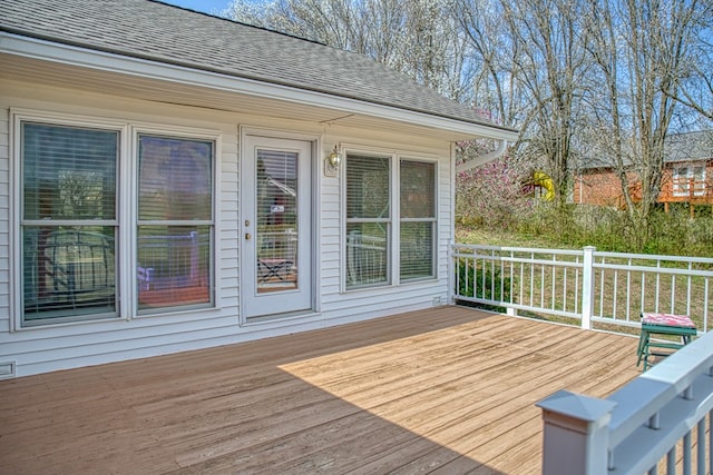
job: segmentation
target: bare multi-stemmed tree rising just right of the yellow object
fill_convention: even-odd
[[[491,105],[505,123],[520,129],[516,154],[550,175],[564,206],[590,67],[578,0],[455,1],[479,60],[478,103]]]

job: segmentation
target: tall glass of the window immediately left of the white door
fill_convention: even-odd
[[[213,301],[213,142],[139,136],[139,310]]]

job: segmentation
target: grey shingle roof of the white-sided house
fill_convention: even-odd
[[[492,126],[365,56],[154,0],[2,0],[0,30]]]

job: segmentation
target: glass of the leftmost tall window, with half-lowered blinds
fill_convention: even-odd
[[[116,316],[119,133],[33,122],[20,133],[22,324]]]

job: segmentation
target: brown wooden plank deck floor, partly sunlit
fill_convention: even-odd
[[[636,339],[439,307],[0,382],[2,474],[535,474],[535,403]]]

